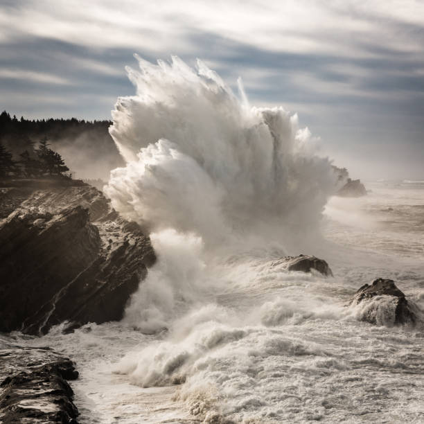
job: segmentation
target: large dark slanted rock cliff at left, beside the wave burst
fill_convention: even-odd
[[[87,184],[24,192],[0,222],[0,331],[121,319],[154,263],[150,239]]]

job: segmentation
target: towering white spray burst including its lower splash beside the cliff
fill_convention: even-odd
[[[138,60],[140,71],[128,69],[136,96],[118,100],[110,129],[127,166],[112,171],[105,191],[152,231],[159,260],[126,317],[153,331],[240,279],[228,272],[246,269],[247,258],[306,244],[335,176],[296,115],[249,107],[200,61],[193,70],[175,57]]]

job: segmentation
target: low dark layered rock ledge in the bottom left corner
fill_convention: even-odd
[[[50,348],[0,348],[0,422],[77,424],[73,363]]]

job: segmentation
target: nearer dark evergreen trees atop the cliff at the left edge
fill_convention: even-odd
[[[39,142],[37,149],[34,148],[35,143],[31,143],[27,150],[19,154],[17,161],[13,159],[12,153],[0,143],[0,177],[71,178],[71,174],[67,174],[69,168],[65,165],[62,157],[48,147],[47,141],[47,137],[44,137]]]

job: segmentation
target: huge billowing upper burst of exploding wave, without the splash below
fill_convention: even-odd
[[[138,58],[138,57],[137,57]],[[112,171],[114,206],[150,231],[193,232],[208,245],[280,242],[315,229],[334,187],[308,128],[282,107],[249,107],[202,62],[127,69],[110,130],[127,166]],[[256,240],[257,242],[257,240]]]

